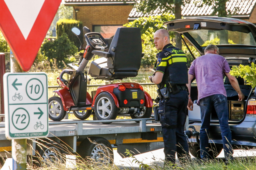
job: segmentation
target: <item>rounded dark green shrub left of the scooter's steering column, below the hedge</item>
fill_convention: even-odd
[[[61,61],[70,63],[67,55],[75,55],[76,52],[77,48],[74,42],[68,39],[66,33],[63,33],[59,38],[55,39],[55,41],[46,40],[41,47],[41,53],[47,57],[46,59],[49,59],[50,62],[56,59],[59,63],[59,67],[63,67]]]

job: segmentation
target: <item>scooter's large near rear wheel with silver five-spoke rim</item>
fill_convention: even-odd
[[[98,120],[115,120],[118,107],[108,92],[102,92],[95,99],[94,112]]]

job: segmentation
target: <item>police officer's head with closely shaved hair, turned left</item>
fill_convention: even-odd
[[[170,35],[166,29],[157,30],[154,33],[154,44],[156,49],[163,50],[164,46],[170,43]]]

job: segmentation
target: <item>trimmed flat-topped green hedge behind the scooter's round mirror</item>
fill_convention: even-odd
[[[83,23],[81,21],[77,21],[77,20],[74,20],[74,19],[60,19],[56,23],[56,25],[57,25],[56,26],[57,37],[60,37],[63,33],[66,33],[68,35],[68,39],[71,42],[74,42],[76,47],[79,49],[79,47],[81,45],[80,41],[83,43],[83,38],[84,38]],[[81,34],[79,36],[80,41],[78,40],[76,35],[71,32],[71,28],[73,28],[74,26],[79,28],[79,30],[81,31]]]

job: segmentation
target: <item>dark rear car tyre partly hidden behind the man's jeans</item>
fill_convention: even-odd
[[[196,144],[196,145],[197,145],[197,144]],[[209,144],[209,148],[211,148],[210,151],[208,152],[210,159],[216,158],[218,155],[220,155],[220,152],[222,151],[222,147],[217,147],[217,146],[215,146],[214,144],[212,144],[212,147],[211,147],[211,145]],[[199,147],[198,145],[195,146],[195,147],[191,147],[191,146],[189,145],[189,152],[190,152],[191,155],[193,155],[195,158],[201,159],[201,156],[200,156],[200,147]]]

